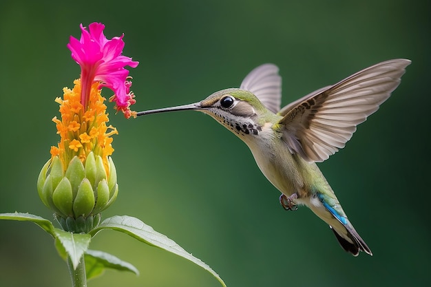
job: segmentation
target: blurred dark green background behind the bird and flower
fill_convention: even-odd
[[[319,164],[373,257],[353,257],[305,207],[284,211],[246,146],[195,112],[125,120],[113,158],[120,193],[103,216],[132,215],[211,266],[228,286],[425,286],[430,247],[430,1],[2,1],[0,212],[52,218],[36,178],[56,145],[56,96],[79,67],[80,23],[125,33],[136,110],[196,102],[276,63],[283,104],[364,67],[412,60],[346,149]],[[105,91],[108,98],[110,91]],[[0,222],[0,286],[70,286],[38,226]],[[134,264],[89,286],[219,286],[198,266],[122,233],[90,248]]]

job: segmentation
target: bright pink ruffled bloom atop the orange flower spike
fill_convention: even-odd
[[[67,47],[72,52],[72,59],[81,66],[81,104],[87,107],[90,89],[94,81],[101,82],[101,87],[114,91],[109,100],[115,101],[117,111],[123,111],[126,118],[134,114],[130,106],[136,103],[134,94],[130,91],[132,82],[125,66],[136,67],[139,62],[121,55],[123,52],[123,35],[108,40],[103,34],[105,25],[91,23],[85,30],[81,27],[81,39],[70,36]]]

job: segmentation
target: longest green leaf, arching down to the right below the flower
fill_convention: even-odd
[[[161,233],[154,231],[151,226],[138,220],[138,218],[130,217],[127,215],[109,217],[106,220],[103,220],[103,222],[101,222],[101,224],[99,224],[92,231],[90,231],[90,234],[94,236],[102,229],[113,229],[116,231],[121,231],[123,233],[126,233],[127,235],[134,237],[140,242],[145,242],[146,244],[149,244],[151,246],[156,246],[158,248],[165,249],[166,251],[184,257],[185,259],[188,259],[194,264],[207,270],[216,279],[218,279],[218,281],[220,281],[222,286],[226,287],[224,281],[217,273],[215,273],[213,269],[211,269],[211,267],[185,251],[181,246],[176,244],[174,240],[170,240],[168,237],[166,237],[166,235],[162,235]]]

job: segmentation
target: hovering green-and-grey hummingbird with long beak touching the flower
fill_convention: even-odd
[[[284,209],[308,206],[329,224],[345,251],[372,255],[315,162],[344,147],[356,126],[389,98],[409,64],[406,59],[378,63],[282,109],[278,68],[264,64],[251,71],[239,89],[222,89],[198,103],[137,115],[182,110],[209,114],[246,143],[264,176],[281,191]]]

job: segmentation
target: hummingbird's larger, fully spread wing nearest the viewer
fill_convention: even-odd
[[[308,162],[326,160],[389,98],[409,64],[395,59],[373,65],[284,107],[279,123],[284,142]]]

